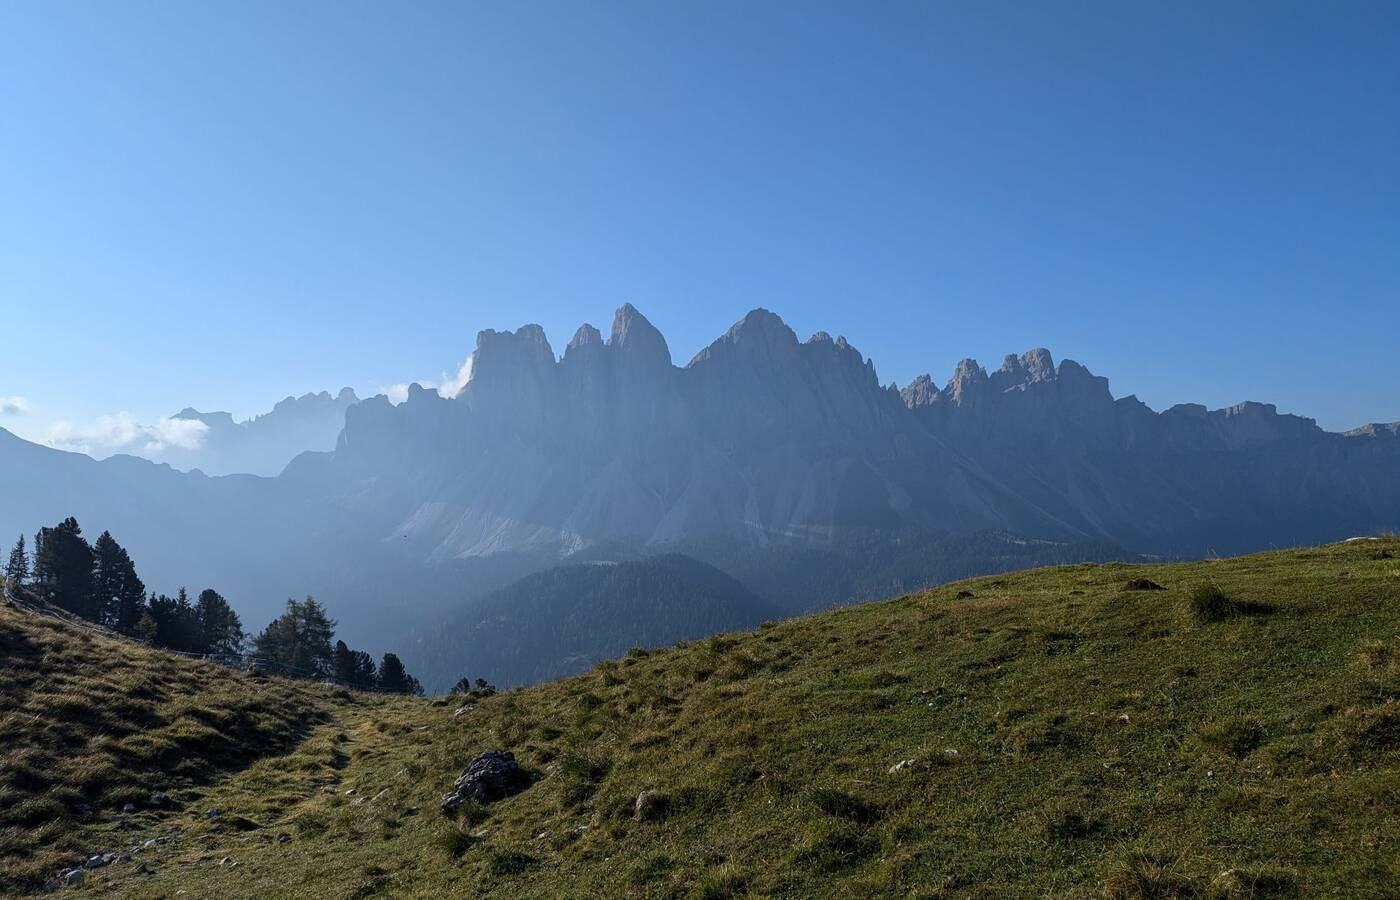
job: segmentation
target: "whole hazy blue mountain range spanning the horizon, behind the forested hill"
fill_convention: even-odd
[[[972,536],[984,556],[958,550],[958,577],[1039,558],[1008,547],[1198,557],[1400,526],[1394,424],[1336,434],[1266,403],[1158,413],[1040,349],[899,389],[844,339],[802,342],[764,309],[683,367],[624,305],[561,356],[536,325],[482,332],[451,399],[319,396],[322,421],[344,419],[333,449],[311,442],[276,477],[0,434],[0,533],[76,515],[148,584],[210,579],[252,623],[315,593],[372,644],[581,558],[683,553],[797,612],[931,584]],[[798,582],[812,589],[784,593]]]

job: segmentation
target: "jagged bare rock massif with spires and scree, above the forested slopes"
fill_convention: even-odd
[[[766,309],[678,368],[627,305],[560,360],[538,326],[483,332],[454,400],[351,407],[335,455],[294,474],[370,487],[385,533],[431,560],[909,529],[1204,553],[1385,528],[1392,435],[1261,403],[1155,413],[1044,349],[895,391],[844,339],[799,342]]]

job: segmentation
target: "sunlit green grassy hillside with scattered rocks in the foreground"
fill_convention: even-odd
[[[1123,589],[1138,578],[1165,589]],[[462,715],[461,700],[252,683],[122,647],[157,691],[162,721],[143,728],[169,740],[207,728],[195,771],[168,774],[178,808],[129,816],[130,830],[67,816],[77,795],[42,785],[45,764],[15,778],[10,756],[132,740],[102,733],[125,715],[87,718],[98,691],[130,694],[105,662],[118,652],[27,614],[0,621],[6,647],[36,648],[21,659],[45,672],[20,687],[38,663],[15,676],[7,649],[4,806],[55,801],[6,822],[7,878],[74,848],[171,838],[74,894],[108,880],[192,899],[291,885],[305,897],[1394,897],[1400,885],[1400,540],[983,578],[634,652]],[[41,689],[60,665],[64,690]],[[204,707],[246,708],[252,746],[218,749],[218,726],[193,712]],[[539,781],[444,816],[438,796],[487,747]],[[175,756],[112,759],[125,785]]]

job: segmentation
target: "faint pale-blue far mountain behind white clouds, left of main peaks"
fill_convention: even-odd
[[[277,474],[293,456],[304,451],[335,448],[346,410],[358,403],[350,388],[332,396],[304,393],[287,398],[272,412],[245,421],[234,421],[228,413],[202,413],[185,407],[171,419],[200,421],[206,426],[197,447],[162,445],[141,455],[153,462],[165,462],[176,469],[200,469],[206,474]]]

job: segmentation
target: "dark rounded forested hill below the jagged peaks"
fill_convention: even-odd
[[[514,687],[582,672],[631,647],[752,628],[777,614],[734,578],[678,553],[575,563],[451,610],[403,644],[403,656],[430,690],[468,675]]]

